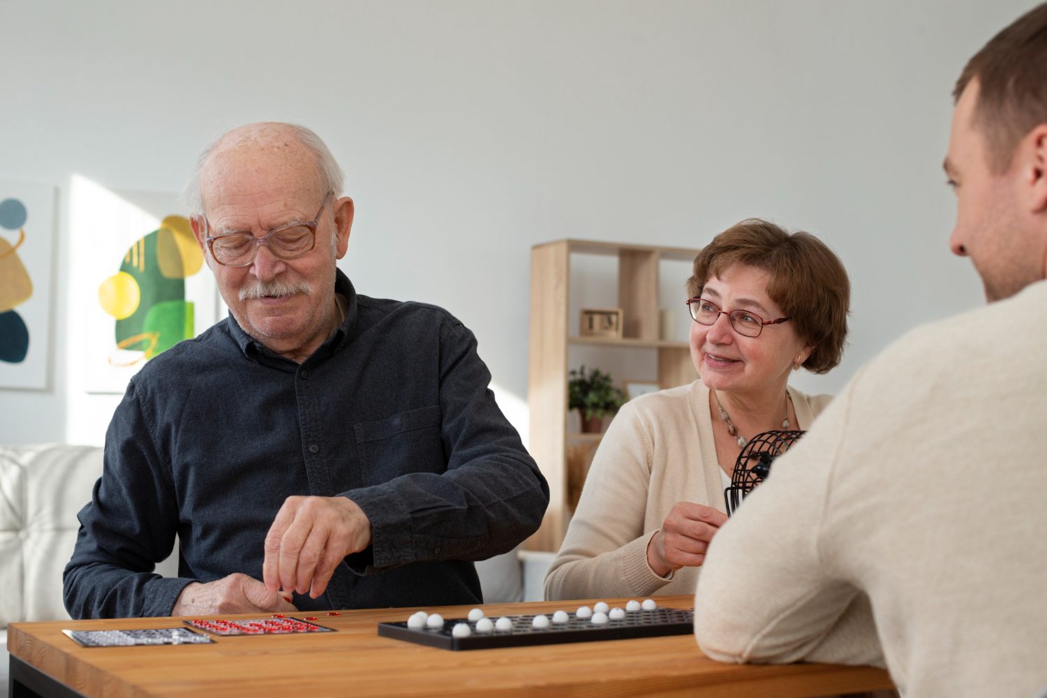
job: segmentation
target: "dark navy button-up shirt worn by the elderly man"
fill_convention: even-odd
[[[476,340],[433,306],[357,295],[300,365],[230,317],[150,361],[106,434],[64,573],[73,617],[170,615],[182,588],[262,579],[291,495],[342,495],[373,525],[300,610],[482,601],[472,560],[537,530],[549,487],[488,389]],[[180,541],[179,577],[153,573]]]

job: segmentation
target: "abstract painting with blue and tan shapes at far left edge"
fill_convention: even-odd
[[[46,389],[54,187],[0,179],[0,388]]]

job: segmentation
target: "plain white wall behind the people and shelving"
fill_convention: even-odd
[[[50,387],[0,390],[0,443],[101,443],[116,401],[67,367],[69,298],[95,292],[64,282],[70,177],[177,192],[260,119],[328,141],[357,204],[343,269],[472,328],[522,429],[529,248],[569,237],[699,247],[749,216],[822,237],[851,273],[851,346],[797,383],[834,391],[982,302],[946,247],[950,91],[1029,6],[0,0],[0,177],[60,187]]]

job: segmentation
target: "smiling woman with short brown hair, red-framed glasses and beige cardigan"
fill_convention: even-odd
[[[700,380],[631,400],[611,422],[545,577],[549,600],[693,593],[747,441],[805,430],[830,400],[787,385],[843,354],[850,283],[824,243],[742,221],[695,257],[687,292]]]

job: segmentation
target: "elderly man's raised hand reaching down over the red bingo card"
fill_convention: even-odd
[[[342,559],[371,545],[371,520],[348,497],[288,497],[265,537],[266,588],[315,599]]]

